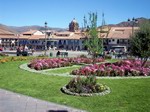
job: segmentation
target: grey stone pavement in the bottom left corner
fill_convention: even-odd
[[[85,112],[0,89],[0,112]]]

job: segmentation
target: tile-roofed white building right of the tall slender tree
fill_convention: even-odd
[[[134,27],[137,30],[138,27]],[[132,35],[132,27],[111,27],[108,35],[104,38],[105,46],[109,49],[129,50],[129,39]]]

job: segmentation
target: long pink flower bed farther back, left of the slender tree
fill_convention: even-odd
[[[98,58],[96,62],[103,62],[104,59]],[[92,63],[90,58],[46,58],[46,59],[35,59],[28,64],[28,67],[36,70],[44,70],[50,68],[59,68],[65,66],[71,66],[73,64],[90,64]]]

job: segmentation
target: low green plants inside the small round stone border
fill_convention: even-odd
[[[86,78],[73,78],[67,85],[66,89],[73,93],[99,93],[107,90],[107,87],[96,82],[95,76]]]

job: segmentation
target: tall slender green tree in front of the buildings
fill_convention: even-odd
[[[87,20],[85,20],[84,17],[84,24],[86,25],[87,37],[84,45],[88,48],[89,52],[91,53],[94,62],[95,58],[103,52],[102,39],[99,38],[99,32],[97,31],[97,13],[89,13],[88,22]]]

